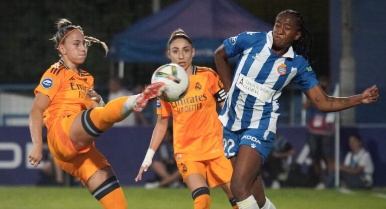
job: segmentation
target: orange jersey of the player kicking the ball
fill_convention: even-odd
[[[87,90],[94,87],[94,78],[83,70],[74,73],[62,60],[59,63],[59,68],[51,66],[47,69],[34,91],[35,94],[47,95],[51,100],[44,111],[47,128],[55,118],[78,113],[94,103],[86,96]]]

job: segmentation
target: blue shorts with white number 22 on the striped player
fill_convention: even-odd
[[[269,130],[250,128],[232,131],[223,126],[224,152],[227,158],[237,156],[239,147],[246,145],[255,149],[261,155],[261,164],[264,164],[271,152],[276,134]]]

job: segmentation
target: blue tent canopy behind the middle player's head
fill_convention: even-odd
[[[213,62],[224,39],[244,31],[269,31],[272,26],[230,0],[183,0],[114,36],[110,57],[125,62],[167,62],[166,44],[178,28],[192,40],[195,61]]]

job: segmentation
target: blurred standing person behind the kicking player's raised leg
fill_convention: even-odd
[[[143,88],[141,89],[141,91],[139,91],[139,93],[141,93],[142,90],[143,90]],[[108,101],[117,99],[119,97],[131,96],[131,95],[135,95],[135,94],[123,86],[121,79],[119,79],[118,77],[110,78]],[[117,127],[117,126],[134,126],[137,124],[148,125],[148,122],[147,122],[147,120],[144,117],[142,112],[133,112],[123,121],[115,123],[114,126],[115,127]]]

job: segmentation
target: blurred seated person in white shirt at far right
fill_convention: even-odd
[[[370,154],[362,147],[362,138],[352,134],[348,138],[350,151],[340,166],[342,185],[348,188],[370,188],[374,165]]]

